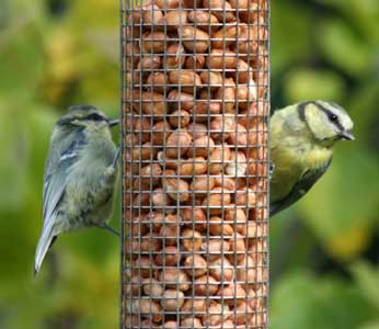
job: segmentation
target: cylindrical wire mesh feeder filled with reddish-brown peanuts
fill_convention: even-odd
[[[120,5],[120,328],[267,328],[268,0]]]

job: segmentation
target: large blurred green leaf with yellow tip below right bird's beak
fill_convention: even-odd
[[[328,172],[298,205],[328,251],[348,260],[365,250],[377,218],[378,163],[353,144],[337,148]]]

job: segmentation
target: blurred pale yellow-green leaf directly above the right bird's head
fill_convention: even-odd
[[[307,100],[340,101],[344,81],[333,71],[294,69],[284,78],[284,93],[289,103]]]

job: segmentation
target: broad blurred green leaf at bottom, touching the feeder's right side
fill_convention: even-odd
[[[271,329],[355,329],[375,310],[352,284],[290,273],[276,284],[271,302]]]

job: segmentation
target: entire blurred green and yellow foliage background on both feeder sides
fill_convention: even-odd
[[[378,22],[377,0],[272,0],[273,109],[334,100],[356,141],[272,219],[271,329],[379,328]],[[118,98],[118,1],[0,1],[0,328],[117,328],[112,235],[65,236],[32,269],[56,118],[74,103],[117,115]]]

